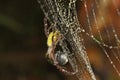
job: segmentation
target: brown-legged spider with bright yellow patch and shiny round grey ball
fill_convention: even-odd
[[[67,55],[63,54],[61,51],[56,51],[55,52],[56,45],[59,44],[59,42],[63,38],[63,35],[60,34],[60,32],[58,30],[52,30],[50,32],[50,30],[53,27],[55,27],[55,24],[52,24],[48,28],[47,18],[44,18],[44,31],[45,31],[45,35],[47,37],[47,46],[48,46],[46,57],[61,72],[64,72],[67,75],[75,75],[78,72],[77,70],[72,72],[72,71],[68,71],[68,70],[66,70],[65,68],[62,67],[63,65],[65,65],[69,62]]]

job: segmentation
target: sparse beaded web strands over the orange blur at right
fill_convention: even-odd
[[[120,77],[120,11],[118,8],[119,4],[116,5],[119,1],[82,0],[81,2],[83,3],[83,10],[86,15],[86,25],[82,25],[85,34],[91,37],[102,48],[106,57]]]

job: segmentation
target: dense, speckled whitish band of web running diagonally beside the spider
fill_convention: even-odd
[[[69,55],[69,51],[67,51],[69,48],[64,48],[63,52],[67,51],[65,54],[68,55],[73,70],[76,70],[76,61],[78,62],[79,72],[76,74],[78,79],[87,80],[90,78],[95,80],[89,59],[82,45],[83,40],[80,37],[81,29],[77,19],[76,0],[39,0],[38,2],[50,24],[56,24],[56,28],[71,45],[74,56]]]

